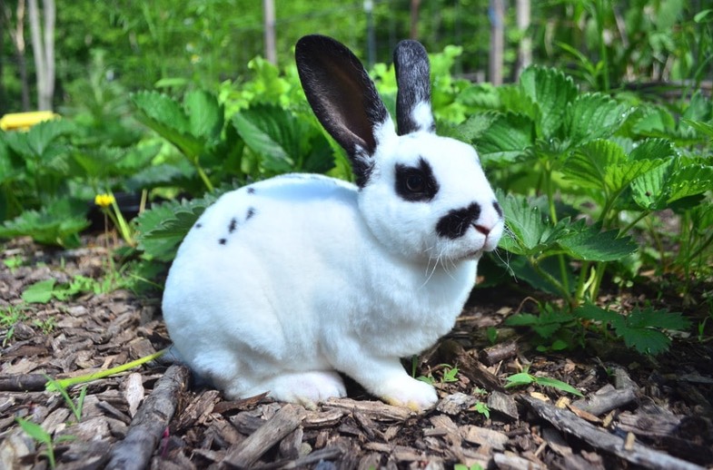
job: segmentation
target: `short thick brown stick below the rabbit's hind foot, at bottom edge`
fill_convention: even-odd
[[[300,426],[304,416],[306,412],[302,408],[290,404],[282,406],[275,416],[234,446],[228,455],[225,455],[220,467],[246,468],[253,465],[272,446]]]

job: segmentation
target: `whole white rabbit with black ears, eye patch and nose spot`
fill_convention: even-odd
[[[320,36],[296,46],[302,87],[356,185],[289,174],[223,195],[183,240],[163,316],[180,357],[225,397],[314,406],[339,372],[388,403],[438,397],[401,366],[448,333],[495,250],[502,211],[478,154],[437,136],[426,51],[394,52],[398,130],[359,60]]]

